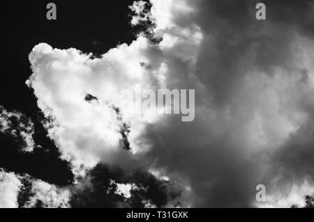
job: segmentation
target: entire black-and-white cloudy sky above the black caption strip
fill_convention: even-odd
[[[6,3],[0,207],[304,207],[314,3],[262,2]],[[131,112],[138,85],[195,90],[195,118]]]

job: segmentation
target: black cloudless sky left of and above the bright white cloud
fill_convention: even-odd
[[[57,5],[57,20],[47,20],[47,3]],[[43,149],[22,154],[18,141],[0,135],[0,168],[28,173],[53,184],[66,185],[73,174],[59,151],[47,138],[40,121],[36,97],[25,81],[31,75],[28,55],[38,43],[100,54],[135,39],[130,27],[128,1],[6,1],[1,3],[1,87],[0,105],[31,117],[34,141]]]

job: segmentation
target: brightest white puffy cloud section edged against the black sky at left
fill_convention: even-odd
[[[34,47],[29,56],[33,67],[31,86],[39,98],[39,107],[46,116],[56,120],[49,133],[65,158],[74,157],[73,163],[84,163],[87,167],[93,167],[100,160],[115,163],[128,159],[132,163],[133,156],[119,148],[123,138],[114,107],[121,109],[124,122],[133,125],[130,138],[136,138],[144,127],[143,121],[147,120],[130,117],[117,92],[132,89],[138,82],[153,84],[154,80],[140,66],[140,61],[147,62],[140,54],[145,47],[148,47],[147,40],[140,38],[130,46],[121,45],[102,59],[94,60],[75,49],[52,50],[47,44]],[[85,101],[87,94],[96,96],[98,101]],[[132,146],[133,151],[143,149]]]

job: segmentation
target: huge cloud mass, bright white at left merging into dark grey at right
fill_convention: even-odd
[[[151,12],[140,2],[132,24],[147,32],[98,59],[33,47],[27,84],[63,158],[77,173],[99,162],[163,172],[187,206],[255,206],[265,184],[268,206],[289,207],[277,200],[313,186],[313,3],[293,16],[293,1],[265,3],[257,21],[255,1],[152,0]],[[130,112],[119,92],[137,84],[195,89],[195,120]]]

